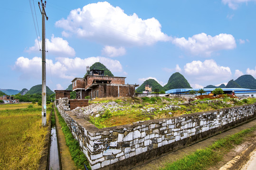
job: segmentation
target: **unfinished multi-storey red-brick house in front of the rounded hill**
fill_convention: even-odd
[[[139,85],[125,85],[126,77],[105,76],[104,70],[90,70],[84,78],[76,77],[72,80],[76,99],[103,97],[133,97],[135,87]]]

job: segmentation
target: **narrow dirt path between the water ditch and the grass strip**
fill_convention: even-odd
[[[62,170],[76,170],[75,162],[72,160],[68,147],[66,146],[65,136],[61,130],[61,126],[59,124],[59,119],[57,117],[55,109],[54,109],[54,114],[56,118],[56,129],[58,134],[58,143],[59,143],[59,151],[60,151],[60,157],[61,157],[61,163],[62,163]]]

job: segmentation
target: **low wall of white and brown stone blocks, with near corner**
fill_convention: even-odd
[[[128,169],[256,116],[256,104],[98,129],[59,105],[92,170]]]

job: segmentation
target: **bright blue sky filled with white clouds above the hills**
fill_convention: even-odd
[[[29,90],[42,83],[38,1],[1,4],[0,89]],[[175,72],[193,88],[256,78],[256,0],[47,0],[45,10],[51,90],[95,62],[133,85]]]

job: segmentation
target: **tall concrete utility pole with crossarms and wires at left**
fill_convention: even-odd
[[[41,0],[41,7],[40,2],[38,2],[39,9],[42,14],[42,126],[46,126],[46,57],[45,57],[45,17],[48,20],[48,17],[45,12],[46,1],[43,3]]]

